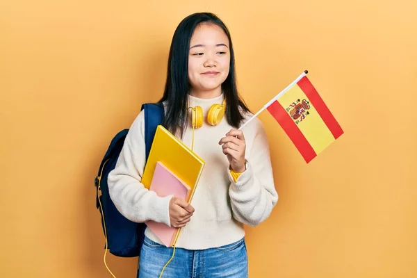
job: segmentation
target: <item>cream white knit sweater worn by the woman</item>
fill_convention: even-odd
[[[223,95],[213,99],[189,97],[190,106],[202,106],[204,124],[195,129],[194,152],[205,162],[202,177],[191,205],[195,213],[181,229],[177,247],[203,250],[234,243],[245,236],[243,224],[256,226],[268,218],[277,204],[268,140],[258,119],[243,129],[248,167],[235,183],[229,161],[218,142],[231,126],[225,117],[218,126],[206,122],[212,104],[221,104]],[[246,115],[249,118],[251,115]],[[188,127],[182,141],[191,147],[193,129]],[[145,169],[145,124],[143,111],[131,125],[115,169],[108,175],[110,196],[117,209],[131,221],[154,220],[170,225],[172,196],[158,197],[140,183]],[[145,235],[161,243],[152,231]]]

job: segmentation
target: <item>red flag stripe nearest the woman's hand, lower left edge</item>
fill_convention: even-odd
[[[293,141],[295,147],[297,147],[302,157],[304,157],[306,163],[309,163],[311,159],[316,157],[317,154],[314,152],[314,149],[311,147],[309,141],[306,140],[297,124],[295,124],[293,119],[291,119],[290,115],[288,115],[278,101],[274,101],[270,106],[268,106],[267,109],[269,113],[271,113],[272,117],[274,117],[275,120],[277,120],[277,122],[281,125],[282,129],[284,129],[291,141]]]

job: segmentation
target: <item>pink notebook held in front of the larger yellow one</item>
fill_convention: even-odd
[[[160,197],[174,195],[174,197],[188,199],[188,195],[190,195],[190,187],[159,161],[156,163],[154,176],[152,177],[149,190],[154,191],[156,195]],[[175,236],[177,236],[178,231],[177,228],[168,227],[166,224],[154,222],[152,220],[145,223],[166,247],[170,247],[174,244]]]

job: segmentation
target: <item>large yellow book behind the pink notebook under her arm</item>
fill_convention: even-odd
[[[151,186],[158,161],[190,187],[190,195],[186,199],[190,203],[204,169],[205,162],[202,158],[199,158],[170,131],[159,125],[156,128],[154,141],[142,177],[142,183],[147,189]],[[167,184],[167,186],[170,185]]]

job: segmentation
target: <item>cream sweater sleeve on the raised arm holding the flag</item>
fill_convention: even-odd
[[[236,181],[227,171],[231,182],[229,196],[234,218],[254,227],[268,218],[278,201],[268,139],[260,121],[257,124],[250,157],[247,157],[247,166]]]

